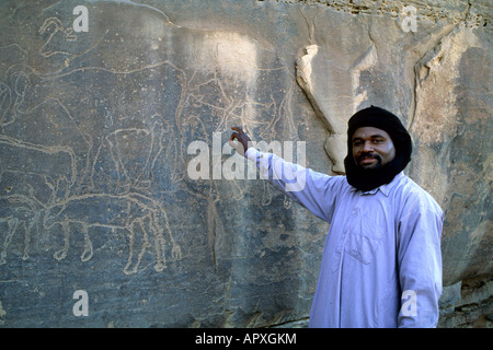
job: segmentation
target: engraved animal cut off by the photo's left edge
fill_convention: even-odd
[[[0,265],[5,264],[12,238],[24,231],[24,253],[28,258],[34,225],[43,208],[56,196],[65,196],[76,177],[70,150],[27,143],[0,135],[0,226],[3,245]]]

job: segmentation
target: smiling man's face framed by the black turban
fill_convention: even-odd
[[[363,127],[353,133],[353,159],[364,170],[375,170],[395,158],[390,136],[381,129]]]

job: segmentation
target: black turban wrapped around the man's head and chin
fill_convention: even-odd
[[[395,148],[395,158],[391,162],[376,170],[364,170],[356,165],[352,138],[353,133],[363,127],[385,130],[390,136]],[[375,106],[362,109],[348,121],[347,156],[344,160],[347,182],[364,191],[389,184],[411,161],[412,150],[411,136],[395,115]]]

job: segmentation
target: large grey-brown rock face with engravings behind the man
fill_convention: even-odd
[[[345,122],[372,104],[408,126],[406,172],[446,213],[442,325],[488,326],[491,16],[486,0],[4,1],[0,325],[306,319],[328,224],[255,177],[229,128],[342,174]]]

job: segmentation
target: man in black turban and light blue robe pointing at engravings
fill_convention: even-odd
[[[371,106],[349,119],[346,176],[259,152],[240,128],[231,129],[231,145],[264,178],[331,224],[310,327],[436,327],[444,214],[403,174],[412,141],[397,116]],[[293,183],[286,174],[302,179],[298,190],[286,189]]]

